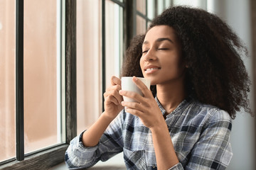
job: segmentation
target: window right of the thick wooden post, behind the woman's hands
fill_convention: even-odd
[[[123,13],[122,1],[77,1],[78,135],[102,113],[102,93],[110,77],[119,77],[124,55]]]

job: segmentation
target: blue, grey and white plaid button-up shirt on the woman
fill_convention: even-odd
[[[156,98],[161,112],[166,113]],[[166,117],[179,163],[170,169],[225,169],[233,155],[230,145],[230,115],[214,106],[188,97]],[[122,111],[110,123],[95,147],[82,145],[75,137],[65,153],[69,169],[85,169],[123,152],[127,169],[157,169],[149,128]]]

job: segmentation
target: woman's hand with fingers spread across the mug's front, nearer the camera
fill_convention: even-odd
[[[151,91],[146,87],[146,85],[141,80],[137,79],[137,77],[133,77],[132,80],[139,87],[144,96],[141,96],[133,91],[120,90],[120,95],[127,96],[137,101],[122,101],[122,106],[125,106],[125,111],[127,113],[137,115],[146,127],[157,127],[159,124],[163,123],[164,117],[156,103],[156,100],[154,99],[154,96],[151,94]]]

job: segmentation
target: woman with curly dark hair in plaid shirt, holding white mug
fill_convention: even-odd
[[[66,164],[87,168],[124,152],[127,169],[225,169],[231,120],[240,108],[250,113],[250,80],[240,58],[247,50],[237,35],[213,14],[177,6],[154,18],[135,42],[123,74],[143,74],[151,91],[137,77],[144,96],[122,91],[112,77],[105,112],[70,142]]]

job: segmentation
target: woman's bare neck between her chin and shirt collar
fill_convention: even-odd
[[[183,82],[156,85],[157,98],[166,113],[171,113],[186,98]]]

